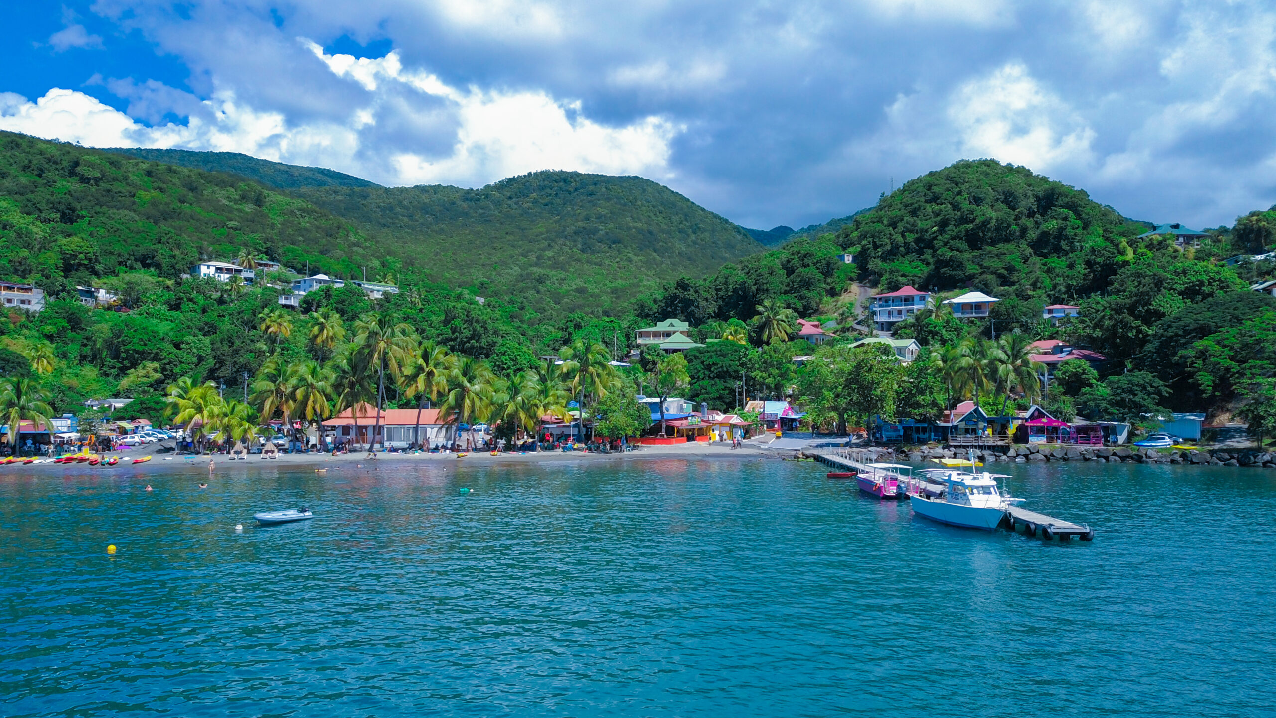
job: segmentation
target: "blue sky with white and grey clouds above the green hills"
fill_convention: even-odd
[[[1155,222],[1276,203],[1271,1],[5,3],[0,66],[0,129],[385,185],[642,175],[759,229],[977,157]]]

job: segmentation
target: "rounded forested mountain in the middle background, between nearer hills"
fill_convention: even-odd
[[[658,281],[762,249],[727,220],[637,176],[541,171],[482,189],[293,194],[411,254],[433,281],[517,298],[537,314],[620,309]]]

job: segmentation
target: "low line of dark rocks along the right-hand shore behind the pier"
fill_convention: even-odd
[[[925,461],[928,459],[966,459],[967,452],[953,448],[916,448],[901,452],[901,459]],[[994,461],[1027,464],[1032,461],[1108,461],[1134,464],[1191,464],[1194,466],[1250,466],[1276,469],[1276,452],[1256,450],[1183,450],[1141,448],[1133,446],[1069,446],[1037,445],[1011,446],[997,451],[975,451],[975,457],[989,464]]]

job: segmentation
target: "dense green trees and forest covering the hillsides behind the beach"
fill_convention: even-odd
[[[375,319],[481,362],[500,378],[489,383],[508,388],[522,386],[521,373],[558,381],[545,358],[582,342],[620,359],[634,330],[676,317],[706,346],[678,370],[648,353],[633,390],[678,391],[715,409],[799,399],[829,425],[874,411],[934,418],[963,397],[990,413],[1039,400],[1060,416],[1206,408],[1247,416],[1276,391],[1276,300],[1248,291],[1273,263],[1222,259],[1272,247],[1273,227],[1276,212],[1266,211],[1208,230],[1198,248],[1139,239],[1145,225],[1083,192],[985,160],[912,180],[837,231],[754,252],[760,245],[739,227],[638,178],[536,172],[482,190],[283,193],[5,133],[0,276],[45,289],[47,307],[0,322],[0,374],[36,377],[59,413],[124,395],[138,400],[134,414],[154,414],[179,379],[249,399],[281,365],[313,362],[337,376],[356,326]],[[847,252],[859,262],[837,259]],[[276,302],[282,289],[181,277],[204,258],[253,257],[337,277],[366,270],[402,291],[371,300],[323,289],[290,313]],[[870,333],[860,298],[901,284],[944,296],[975,287],[1002,302],[989,321],[939,305],[898,325],[896,336],[924,346],[901,370],[880,346],[849,348]],[[119,303],[85,308],[77,285],[108,289]],[[1078,304],[1081,317],[1049,325],[1041,309],[1051,303]],[[796,337],[799,317],[835,339],[815,350]],[[1097,370],[1069,362],[1063,381],[1034,387],[1028,342],[1051,337],[1108,362]],[[810,354],[817,360],[794,360]],[[411,405],[398,385],[380,399]]]

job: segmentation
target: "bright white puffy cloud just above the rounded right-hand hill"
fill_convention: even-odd
[[[995,157],[1036,171],[1094,160],[1095,132],[1022,63],[962,84],[947,114],[966,157]]]

